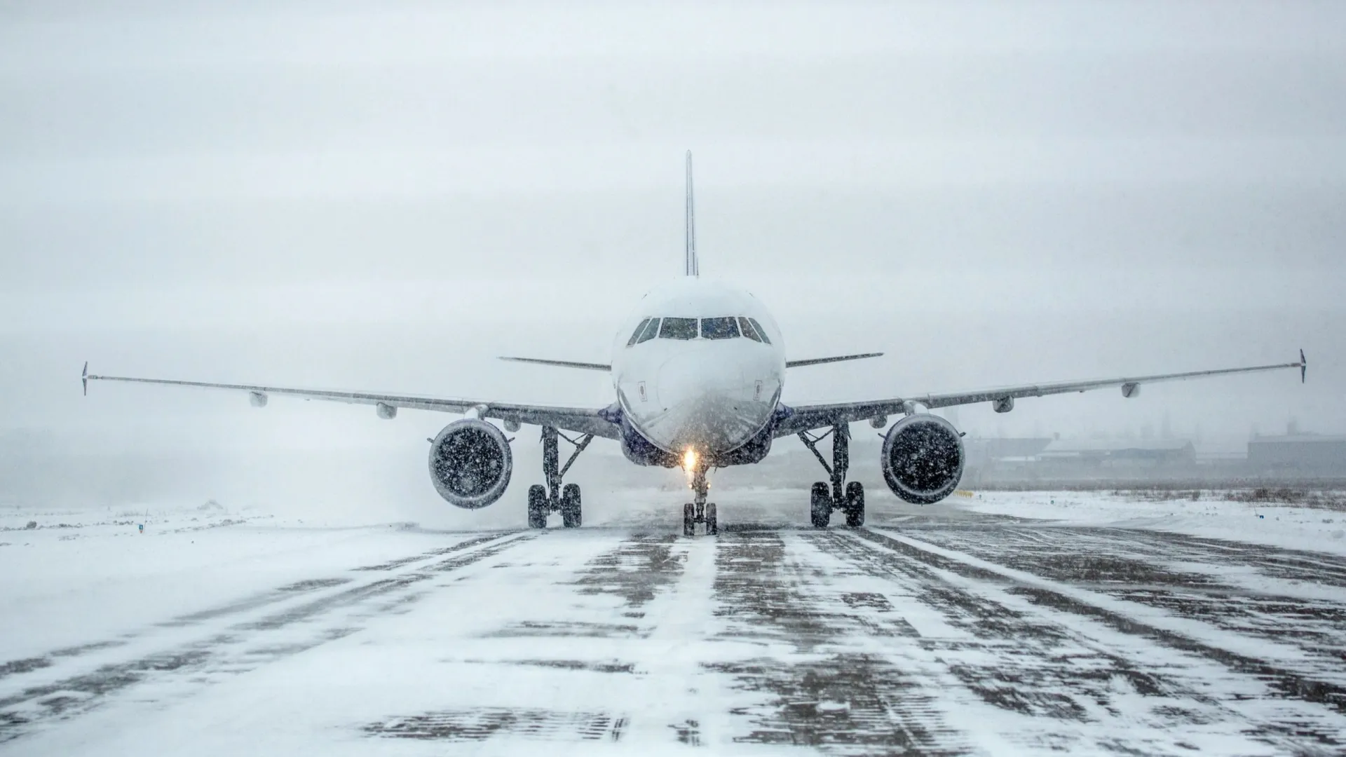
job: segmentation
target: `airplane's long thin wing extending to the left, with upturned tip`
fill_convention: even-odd
[[[493,403],[482,400],[463,400],[446,397],[427,397],[420,395],[381,395],[374,392],[343,392],[334,389],[295,389],[288,387],[268,387],[261,384],[211,384],[207,381],[178,381],[171,378],[133,378],[128,376],[94,376],[89,373],[89,364],[85,364],[81,376],[85,393],[89,393],[89,381],[127,381],[133,384],[162,384],[168,387],[192,387],[198,389],[229,389],[234,392],[248,392],[256,405],[267,404],[271,395],[288,395],[306,400],[327,400],[334,403],[376,405],[380,418],[392,418],[396,408],[433,409],[440,412],[467,412],[478,408],[482,418],[498,420],[528,423],[533,426],[555,426],[565,431],[577,434],[594,434],[607,439],[619,439],[621,428],[606,420],[604,408],[577,408],[529,405],[513,403]]]

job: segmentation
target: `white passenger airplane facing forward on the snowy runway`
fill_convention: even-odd
[[[700,277],[690,151],[686,154],[685,213],[684,276],[641,299],[618,331],[611,362],[502,358],[608,372],[615,401],[607,407],[96,376],[89,373],[87,362],[82,374],[83,392],[89,393],[89,381],[129,381],[246,392],[254,407],[265,407],[271,395],[366,404],[374,405],[378,418],[388,420],[402,408],[462,414],[460,420],[431,439],[429,477],[440,497],[466,509],[494,504],[513,474],[511,439],[491,422],[499,422],[507,432],[524,424],[540,426],[544,484],[534,484],[528,490],[530,528],[546,528],[546,519],[553,512],[560,512],[565,528],[580,525],[580,488],[564,484],[565,473],[595,438],[612,439],[635,465],[682,467],[688,473],[693,501],[682,505],[682,532],[693,536],[699,524],[707,535],[719,532],[716,504],[707,501],[707,471],[760,462],[771,451],[771,442],[783,436],[798,436],[828,474],[828,481],[813,484],[809,493],[810,523],[826,528],[832,515],[841,512],[848,527],[860,527],[864,524],[864,486],[847,481],[851,423],[867,420],[874,428],[883,428],[890,416],[902,416],[883,435],[884,482],[907,502],[933,504],[957,489],[965,461],[962,434],[945,418],[933,415],[933,409],[991,403],[996,412],[1010,412],[1015,400],[1023,397],[1109,387],[1120,388],[1123,397],[1136,397],[1143,385],[1158,381],[1289,368],[1300,370],[1300,381],[1307,374],[1304,352],[1299,350],[1298,362],[1279,365],[786,405],[781,401],[781,391],[790,369],[882,353],[787,360],[781,329],[760,300],[746,290]],[[830,465],[818,451],[818,443],[828,436],[832,438]],[[572,447],[564,465],[560,463],[560,439]]]

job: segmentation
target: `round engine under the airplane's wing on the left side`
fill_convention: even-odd
[[[429,445],[429,480],[450,504],[470,511],[501,498],[514,457],[501,430],[464,418],[444,427]]]

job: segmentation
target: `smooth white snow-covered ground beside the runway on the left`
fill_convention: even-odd
[[[28,523],[39,527],[27,529]],[[404,531],[389,539],[389,529]],[[0,656],[8,661],[136,634],[167,621],[164,613],[205,612],[315,571],[462,537],[405,531],[405,524],[322,528],[215,509],[160,509],[148,519],[129,511],[4,513]]]

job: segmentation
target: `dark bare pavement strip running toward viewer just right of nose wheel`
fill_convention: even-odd
[[[872,598],[824,599],[821,587],[810,585],[825,577],[789,547],[795,539],[735,529],[721,532],[716,544],[716,617],[728,624],[721,638],[793,649],[705,665],[730,676],[727,687],[754,702],[730,710],[750,727],[734,741],[833,753],[966,752],[918,678],[882,653],[848,644],[874,630],[852,612]]]

